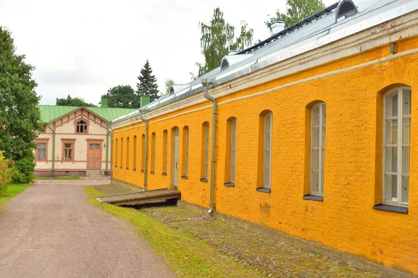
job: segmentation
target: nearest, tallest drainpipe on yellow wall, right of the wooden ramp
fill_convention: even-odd
[[[201,84],[203,85],[203,88],[205,88],[205,97],[206,99],[212,101],[213,103],[213,111],[212,111],[212,165],[210,167],[210,209],[208,211],[208,214],[210,216],[214,215],[215,212],[215,199],[214,199],[214,194],[215,194],[215,146],[216,146],[216,109],[217,109],[217,103],[216,103],[216,99],[215,97],[210,97],[209,93],[208,93],[208,88],[210,83],[212,83],[212,81],[210,81],[209,79],[202,79]]]

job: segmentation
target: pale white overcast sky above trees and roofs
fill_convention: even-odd
[[[323,0],[326,6],[336,0]],[[285,9],[286,0],[0,0],[0,25],[15,38],[18,54],[36,66],[33,78],[40,104],[82,97],[98,104],[116,85],[136,90],[137,76],[149,60],[160,91],[164,80],[190,81],[194,63],[203,63],[199,22],[213,9],[239,28],[246,20],[254,41],[270,31],[268,15]],[[220,61],[219,61],[220,63]]]

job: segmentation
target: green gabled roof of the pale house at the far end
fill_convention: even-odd
[[[49,123],[59,119],[72,111],[75,111],[82,106],[57,106],[57,105],[39,105],[40,113],[42,115],[42,122]],[[92,113],[102,117],[107,122],[121,117],[137,109],[132,108],[108,108],[108,107],[83,107]]]

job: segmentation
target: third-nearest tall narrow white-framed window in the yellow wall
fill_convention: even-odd
[[[264,116],[263,136],[263,188],[272,188],[272,126],[273,113],[269,112]],[[267,121],[270,121],[266,124]],[[269,128],[269,129],[268,129]],[[266,144],[265,138],[269,138],[270,144]],[[267,177],[267,179],[266,179]]]

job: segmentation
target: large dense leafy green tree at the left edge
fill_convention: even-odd
[[[24,173],[24,182],[28,182],[35,167],[35,138],[42,128],[40,97],[32,79],[35,67],[15,51],[10,31],[0,26],[0,149],[15,161],[16,171]]]

